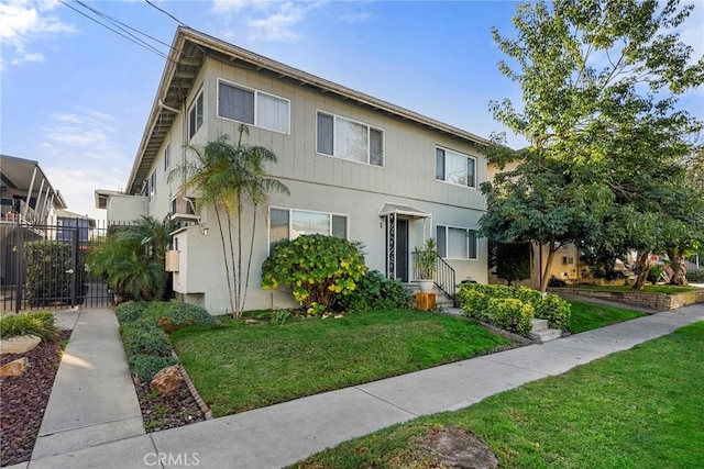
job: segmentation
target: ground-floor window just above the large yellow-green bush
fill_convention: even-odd
[[[346,239],[348,215],[308,210],[270,210],[270,250],[277,243],[296,239],[302,234],[322,234]]]

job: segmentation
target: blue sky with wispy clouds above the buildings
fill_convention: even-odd
[[[172,43],[177,23],[143,0],[81,1]],[[512,1],[152,3],[190,27],[482,136],[503,130],[490,100],[520,101],[498,72],[503,55],[490,31],[510,35]],[[695,3],[681,34],[701,55],[704,1]],[[38,160],[69,210],[103,219],[94,190],[124,188],[165,59],[66,4],[0,0],[0,152]],[[704,119],[701,90],[682,104]]]

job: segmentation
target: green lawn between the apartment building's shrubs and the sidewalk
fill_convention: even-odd
[[[172,334],[196,389],[216,416],[345,388],[510,346],[462,319],[419,311]]]

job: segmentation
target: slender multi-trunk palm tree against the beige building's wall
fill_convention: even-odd
[[[246,291],[250,284],[254,235],[256,232],[257,209],[268,201],[273,191],[288,194],[288,188],[266,171],[266,165],[275,164],[278,158],[274,152],[263,146],[244,144],[243,135],[249,127],[240,124],[237,145],[230,143],[230,136],[220,135],[208,142],[202,148],[189,147],[196,155],[169,175],[184,176],[184,193],[195,189],[200,193],[199,206],[215,206],[216,220],[220,233],[220,243],[224,256],[226,278],[230,293],[232,315],[239,317],[244,310]],[[242,255],[242,213],[245,204],[253,211],[250,252],[246,258],[244,276]],[[232,223],[237,221],[237,235]],[[243,278],[244,277],[244,278]]]

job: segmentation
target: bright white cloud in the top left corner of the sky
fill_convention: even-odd
[[[44,62],[44,56],[28,51],[30,44],[58,34],[76,32],[52,14],[58,2],[47,0],[9,0],[0,3],[0,44],[10,46],[12,65]]]

